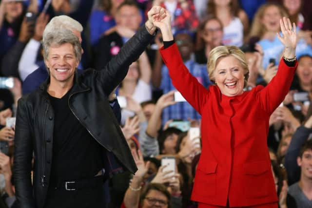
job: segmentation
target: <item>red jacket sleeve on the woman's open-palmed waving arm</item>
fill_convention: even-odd
[[[260,99],[262,108],[266,112],[273,113],[281,102],[283,102],[291,87],[297,65],[298,63],[296,61],[294,67],[289,67],[282,58],[279,62],[276,75],[265,88],[259,91],[258,98]]]

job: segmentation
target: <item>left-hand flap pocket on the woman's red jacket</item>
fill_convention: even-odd
[[[195,194],[214,196],[216,192],[216,162],[199,163],[197,166],[194,191]]]

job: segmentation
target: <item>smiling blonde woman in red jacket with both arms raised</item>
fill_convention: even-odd
[[[245,54],[235,46],[218,46],[208,58],[215,85],[205,89],[183,64],[170,14],[165,13],[163,19],[153,17],[164,40],[161,56],[176,89],[202,115],[202,151],[192,200],[198,208],[277,208],[267,133],[270,115],[287,95],[297,67],[295,24],[279,20],[284,53],[266,87],[244,92],[249,76]]]

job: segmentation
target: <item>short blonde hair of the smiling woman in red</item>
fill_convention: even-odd
[[[241,67],[244,70],[244,87],[247,85],[247,81],[249,78],[249,69],[245,57],[245,53],[242,52],[237,46],[233,45],[225,45],[225,46],[217,46],[211,52],[208,56],[208,63],[207,63],[207,69],[208,69],[208,75],[212,82],[215,82],[214,72],[215,72],[215,66],[218,62],[218,60],[221,57],[228,57],[233,56],[235,57]]]

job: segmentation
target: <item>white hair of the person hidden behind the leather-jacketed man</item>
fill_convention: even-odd
[[[60,15],[52,18],[45,26],[42,39],[44,40],[47,34],[55,33],[59,29],[77,30],[79,33],[81,33],[83,27],[77,20],[66,15]]]

